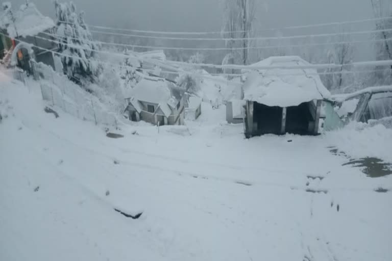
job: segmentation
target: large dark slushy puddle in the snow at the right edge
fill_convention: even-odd
[[[383,177],[392,174],[392,164],[385,163],[377,158],[363,158],[351,160],[342,166],[352,165],[362,169],[362,172],[369,177]]]

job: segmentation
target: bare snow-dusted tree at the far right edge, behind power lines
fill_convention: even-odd
[[[392,60],[392,4],[382,0],[371,0],[373,13],[376,18],[390,17],[376,21],[376,30],[381,31],[375,35],[376,60]],[[383,31],[385,30],[385,31]],[[392,84],[392,65],[376,66],[371,85]]]

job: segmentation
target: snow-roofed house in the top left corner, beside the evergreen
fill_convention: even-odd
[[[51,51],[56,50],[57,45],[51,41],[54,21],[43,16],[33,3],[26,2],[19,10],[13,11],[10,3],[3,4],[3,13],[0,14],[0,54],[8,51],[17,52],[17,65],[24,70],[31,71],[31,51],[20,42],[32,44],[33,54],[36,62],[43,62],[55,69],[54,57]],[[18,46],[18,48],[15,48]],[[19,48],[20,47],[20,48]],[[9,56],[11,57],[11,56]],[[0,55],[1,58],[1,55]]]

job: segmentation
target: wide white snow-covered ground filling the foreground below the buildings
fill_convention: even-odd
[[[46,105],[0,72],[0,260],[392,260],[392,175],[330,152],[390,163],[391,129],[246,140],[204,103],[111,139]]]

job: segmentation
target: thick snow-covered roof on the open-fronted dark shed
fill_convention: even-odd
[[[307,66],[298,56],[269,57],[252,66]],[[298,106],[302,102],[330,97],[315,69],[263,69],[244,70],[244,99],[266,106]]]

